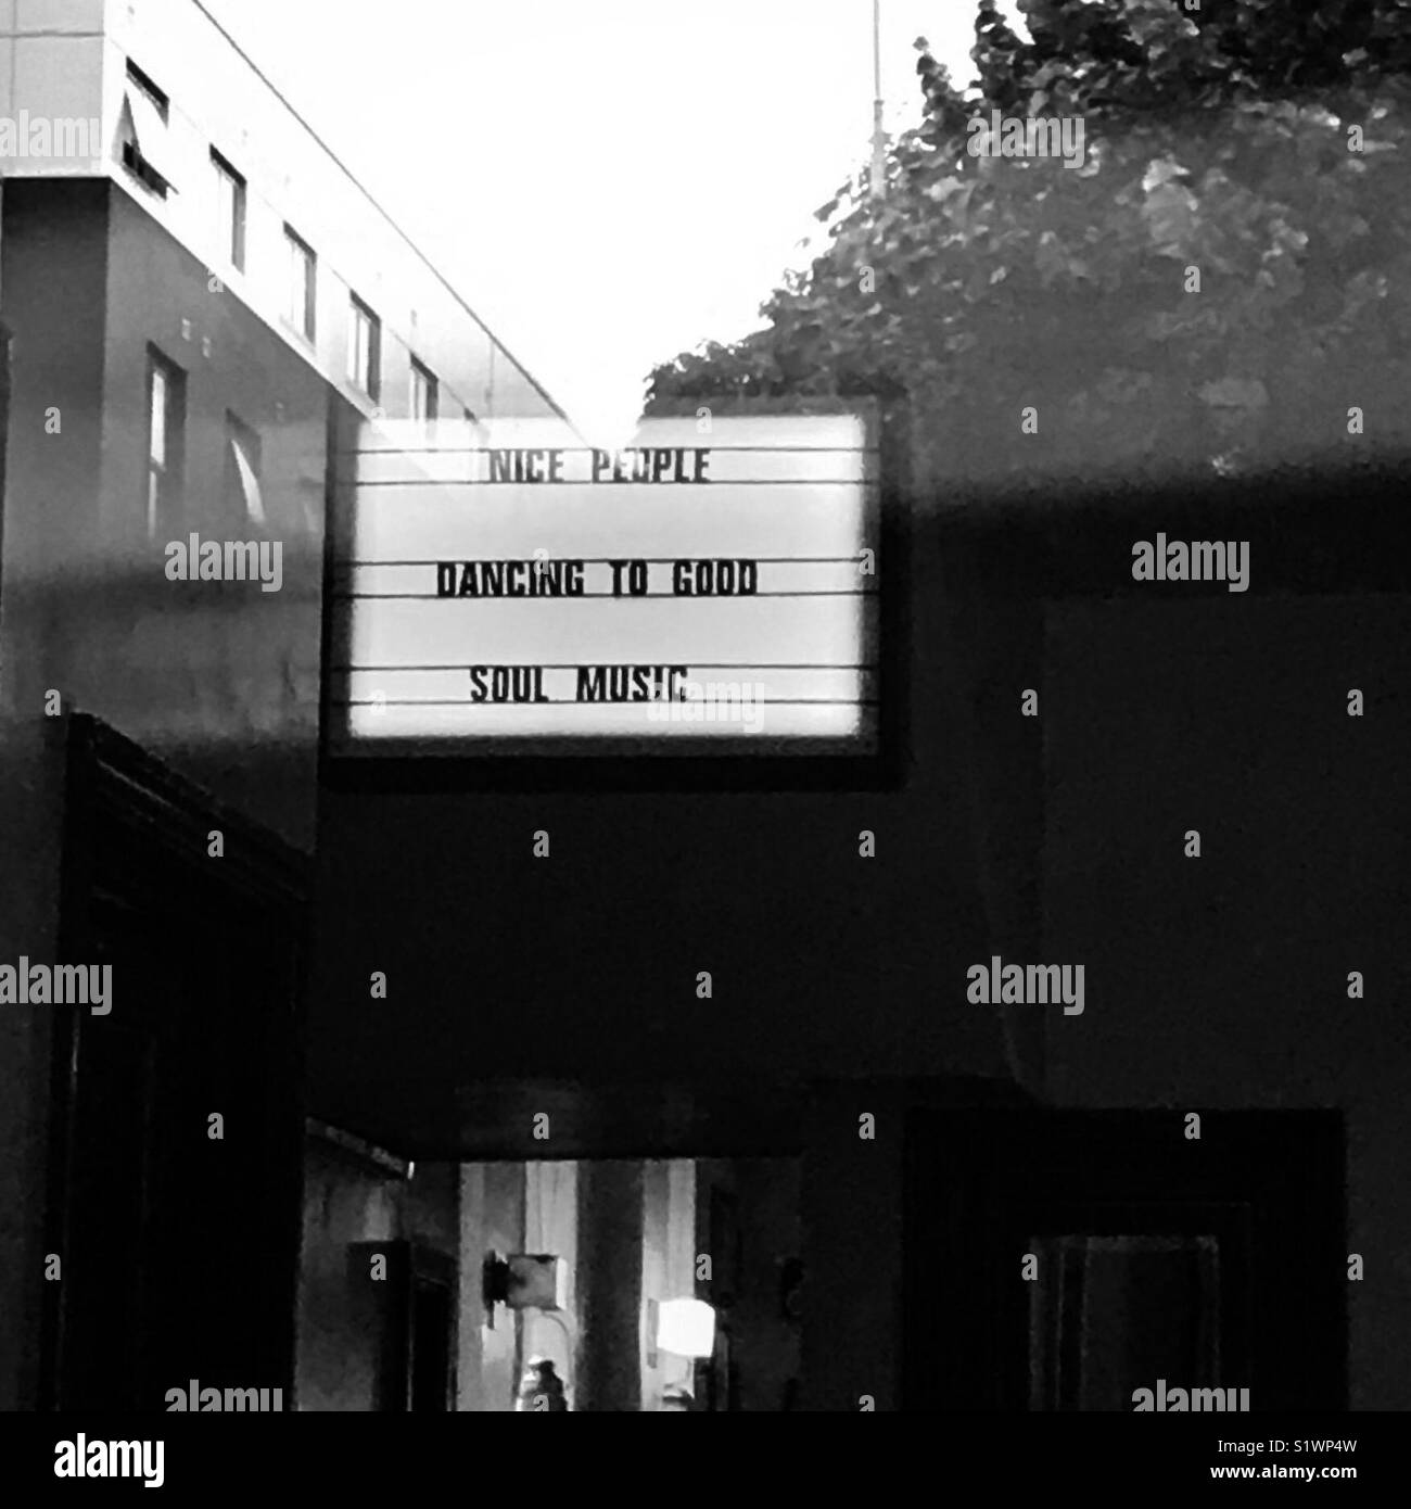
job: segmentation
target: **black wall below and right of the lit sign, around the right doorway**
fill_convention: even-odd
[[[315,1010],[341,1035],[315,1047],[315,1094],[376,1099],[359,1061],[391,1055],[392,1083],[430,1093],[477,1064],[696,1082],[1010,1065],[1073,1106],[1340,1106],[1349,1249],[1382,1263],[1349,1286],[1351,1399],[1405,1408],[1387,1338],[1406,1319],[1406,1065],[1385,1011],[1405,985],[1411,638],[1385,484],[1333,530],[1361,489],[1308,483],[918,513],[896,794],[329,794]],[[1157,530],[1251,539],[1253,592],[1133,584],[1132,540]],[[1183,859],[1188,827],[1206,859]],[[359,899],[346,877],[379,866]],[[991,951],[1085,964],[1085,1014],[966,1007]],[[380,967],[413,1032],[379,1025]],[[1369,999],[1349,1002],[1358,967]],[[901,1138],[880,1120],[859,1144],[877,1096],[854,1100],[803,1138],[807,1314],[835,1317],[804,1328],[809,1408],[896,1399]]]

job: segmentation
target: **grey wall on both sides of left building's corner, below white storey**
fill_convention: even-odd
[[[9,696],[56,687],[300,847],[314,834],[327,385],[107,181],[6,186],[15,332]],[[183,515],[145,528],[148,346],[186,373]],[[57,407],[60,435],[45,435]],[[223,499],[226,413],[267,527]],[[282,585],[172,581],[168,543],[266,539]]]

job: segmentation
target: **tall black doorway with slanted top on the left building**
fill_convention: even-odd
[[[60,955],[112,966],[112,1003],[56,1019],[47,1408],[288,1397],[305,901],[299,854],[71,720]]]

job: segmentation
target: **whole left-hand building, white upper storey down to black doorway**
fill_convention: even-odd
[[[85,1035],[45,1005],[6,1007],[0,1023],[3,1408],[131,1397],[180,1370],[175,1354],[127,1357],[143,1328],[158,1334],[154,1313],[115,1338],[110,1311],[124,1308],[118,1275],[137,1281],[137,1249],[154,1249],[202,1176],[152,1165],[151,1133],[116,1108],[164,1108],[180,1142],[198,1114],[180,1109],[180,1085],[219,1077],[225,1058],[234,1077],[217,1099],[266,1139],[237,1156],[228,1194],[275,1150],[297,1169],[296,872],[315,830],[337,436],[382,415],[471,436],[483,418],[560,410],[193,0],[0,5],[0,952],[118,949],[127,990],[143,981],[142,1008],[128,994],[109,1041],[97,1019]],[[74,715],[94,720],[83,736]],[[119,788],[142,789],[121,818]],[[100,892],[118,907],[106,920]],[[255,952],[244,927],[284,939],[281,978],[251,984],[243,1026],[231,996],[222,1026],[223,982]],[[164,949],[186,963],[157,969]],[[210,1031],[181,1028],[202,1010]],[[66,1059],[83,1073],[56,1068]],[[88,1130],[65,1139],[65,1120]],[[116,1263],[107,1289],[45,1284],[51,1251],[85,1266],[65,1210],[104,1188],[104,1126],[110,1150],[136,1139],[109,1171],[128,1213],[107,1212],[136,1266]],[[171,1200],[154,1194],[161,1180]],[[270,1213],[290,1271],[297,1183],[282,1182]],[[214,1207],[192,1221],[166,1239],[199,1245]],[[219,1310],[226,1281],[232,1268],[211,1268],[186,1301]],[[290,1382],[282,1345],[266,1335],[251,1354],[270,1387]],[[127,1361],[100,1367],[104,1349]]]

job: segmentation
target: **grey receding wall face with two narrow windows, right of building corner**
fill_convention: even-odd
[[[112,190],[104,370],[104,512],[143,496],[146,344],[187,371],[187,525],[202,539],[282,543],[282,585],[169,582],[166,540],[137,552],[164,593],[124,614],[130,715],[217,795],[309,847],[318,738],[327,385],[207,269]],[[190,321],[189,337],[183,321]],[[226,413],[261,438],[267,527],[222,510]],[[184,537],[184,536],[178,536]],[[154,595],[157,596],[157,595]]]

